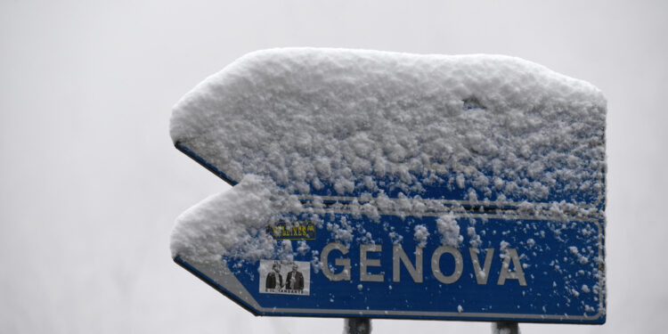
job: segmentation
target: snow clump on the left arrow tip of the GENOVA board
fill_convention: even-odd
[[[221,256],[248,260],[272,257],[279,244],[265,232],[267,222],[279,220],[279,213],[298,211],[301,205],[294,196],[276,196],[281,191],[270,185],[248,175],[231,190],[183,212],[172,232],[172,256],[200,262],[220,261]],[[289,248],[286,257],[291,256]]]

